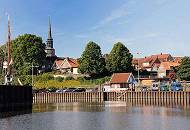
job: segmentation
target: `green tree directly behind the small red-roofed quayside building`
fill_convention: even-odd
[[[133,55],[127,47],[118,42],[113,46],[107,60],[106,68],[110,73],[131,72]]]

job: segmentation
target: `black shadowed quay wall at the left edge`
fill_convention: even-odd
[[[32,87],[0,85],[0,117],[32,111]]]

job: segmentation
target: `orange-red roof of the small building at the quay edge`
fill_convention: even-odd
[[[114,73],[110,83],[128,83],[130,76],[132,76],[132,73]]]

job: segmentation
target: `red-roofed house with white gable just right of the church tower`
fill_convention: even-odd
[[[57,59],[54,62],[54,70],[59,70],[63,74],[79,74],[79,63],[73,58]]]

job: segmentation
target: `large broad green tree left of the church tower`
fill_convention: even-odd
[[[45,64],[45,44],[36,35],[18,36],[12,41],[12,53],[14,68],[18,74],[27,74],[32,63],[37,66]]]

